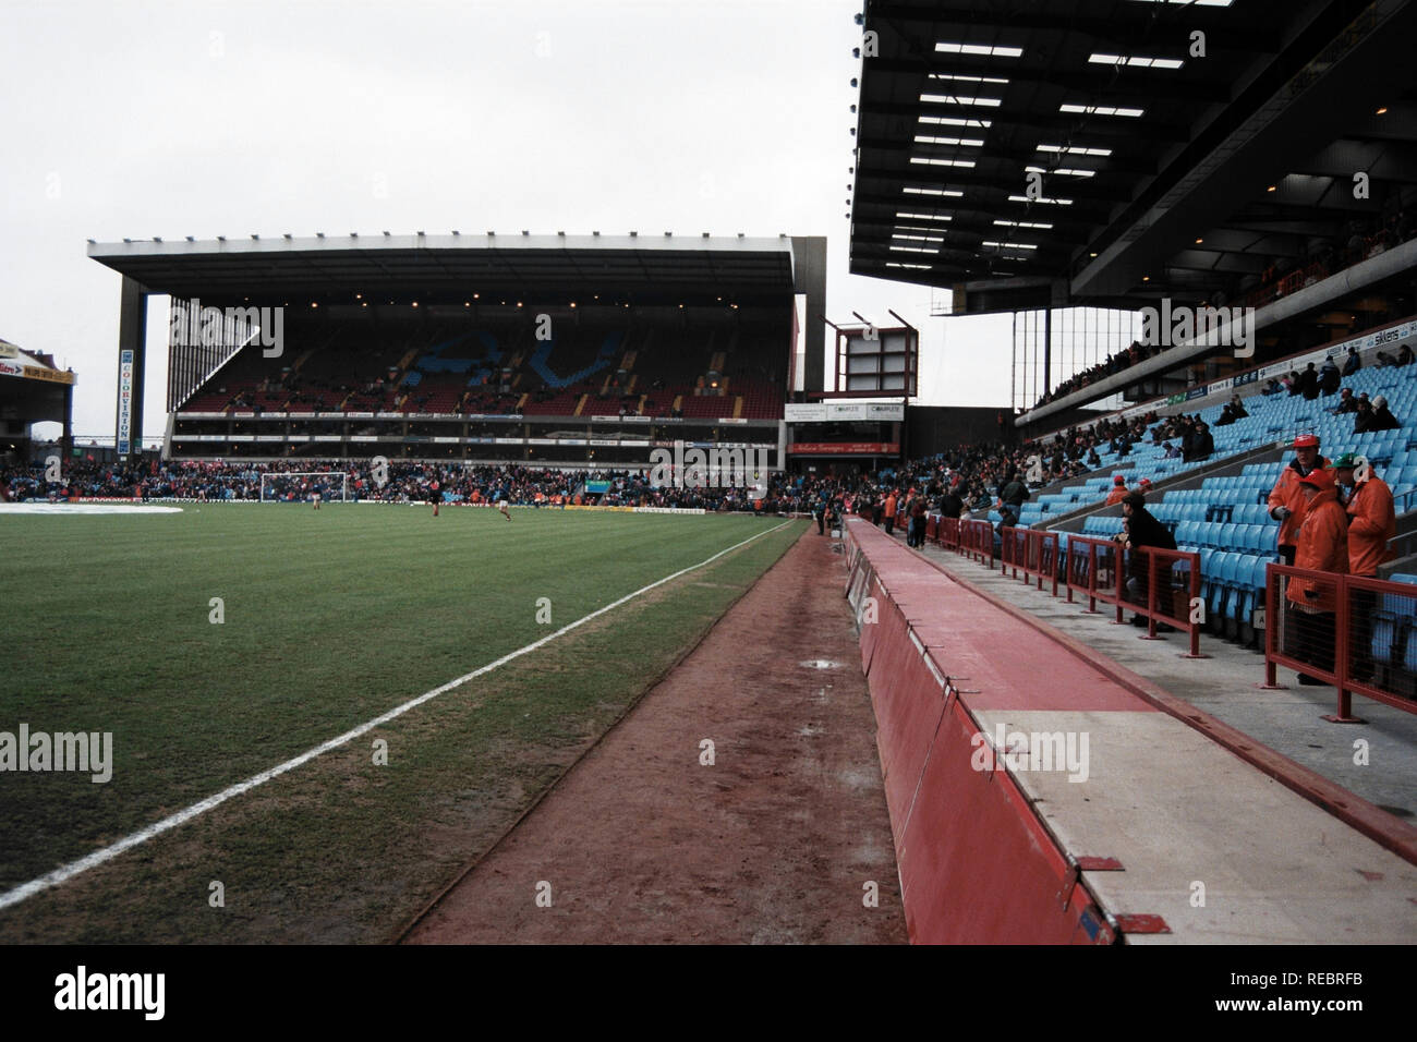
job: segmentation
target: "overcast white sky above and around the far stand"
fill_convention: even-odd
[[[921,330],[922,404],[1007,405],[1010,319],[847,275],[859,0],[0,0],[0,337],[113,434],[85,240],[495,228],[826,235],[829,315]],[[166,298],[145,434],[163,431]]]

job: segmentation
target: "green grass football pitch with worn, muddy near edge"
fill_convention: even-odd
[[[0,941],[390,940],[805,527],[512,517],[220,503],[0,516]],[[88,770],[61,770],[75,764],[58,739],[35,751],[34,736],[79,732]],[[95,781],[101,736],[111,777]]]

